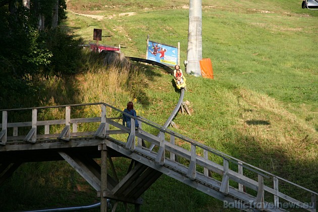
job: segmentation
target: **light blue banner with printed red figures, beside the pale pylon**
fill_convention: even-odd
[[[178,47],[148,41],[147,60],[172,66],[178,64]]]

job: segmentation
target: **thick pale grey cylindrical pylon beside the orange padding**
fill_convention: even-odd
[[[190,0],[186,73],[201,76],[202,60],[202,1]]]

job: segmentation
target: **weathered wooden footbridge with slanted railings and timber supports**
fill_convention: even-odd
[[[98,110],[98,115],[85,117],[92,114],[83,112],[87,108]],[[43,118],[49,117],[43,114],[52,110],[62,112],[63,118]],[[19,122],[17,113],[25,114],[23,117],[29,120]],[[316,211],[316,192],[145,118],[137,118],[136,129],[135,118],[131,117],[131,128],[127,128],[118,118],[122,113],[106,103],[2,110],[0,185],[22,163],[65,160],[96,190],[100,211],[107,211],[107,199],[132,203],[139,211],[141,194],[162,174],[224,201],[228,207],[246,211],[286,211],[293,207]],[[155,146],[152,150],[148,148],[151,145]],[[123,179],[116,174],[114,157],[131,160]],[[100,158],[100,164],[95,158]],[[281,184],[300,190],[306,198],[299,201],[283,193]]]

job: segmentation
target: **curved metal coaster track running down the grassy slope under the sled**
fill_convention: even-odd
[[[168,73],[173,74],[173,70],[169,66],[166,66],[164,64],[161,64],[161,63],[158,63],[158,62],[155,62],[155,61],[146,60],[146,59],[141,59],[141,58],[132,58],[132,57],[126,57],[126,58],[131,60],[131,61],[149,63],[149,64],[152,64],[152,65],[159,66],[159,67],[165,69]],[[168,120],[163,125],[163,127],[168,128],[170,123],[172,122],[173,118],[177,115],[177,113],[178,113],[178,111],[179,111],[179,109],[181,107],[181,104],[183,102],[183,96],[184,96],[184,89],[181,88],[180,97],[179,97],[179,101],[178,101],[178,103],[176,105],[176,108],[172,111],[171,115],[169,116]],[[153,149],[153,147],[154,147],[154,144],[152,144],[149,147],[150,151]]]

